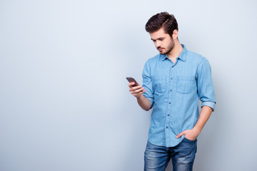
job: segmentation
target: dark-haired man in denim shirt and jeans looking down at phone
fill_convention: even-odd
[[[144,110],[153,108],[145,150],[146,171],[192,170],[196,138],[213,112],[216,100],[211,67],[203,56],[178,41],[178,24],[162,12],[151,17],[146,31],[158,49],[143,68],[143,86],[129,83],[129,91]],[[201,100],[201,113],[198,110]]]

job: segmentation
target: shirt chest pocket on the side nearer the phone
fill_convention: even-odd
[[[155,93],[166,92],[166,76],[153,76],[153,90]]]

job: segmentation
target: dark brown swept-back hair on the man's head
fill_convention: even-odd
[[[161,27],[164,31],[172,36],[174,30],[178,30],[178,23],[175,17],[168,12],[161,12],[152,16],[146,23],[146,31],[148,33],[153,33],[158,31]]]

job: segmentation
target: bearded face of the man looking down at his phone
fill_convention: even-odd
[[[156,46],[157,50],[163,55],[169,53],[174,46],[173,38],[168,33],[165,33],[163,28],[158,29],[153,33],[150,33],[151,40]]]

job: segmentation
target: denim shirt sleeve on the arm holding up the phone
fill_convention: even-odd
[[[143,96],[147,98],[151,103],[151,108],[153,107],[153,85],[151,81],[151,67],[148,61],[146,61],[145,66],[143,67],[143,88],[146,90],[145,93],[143,93]]]

